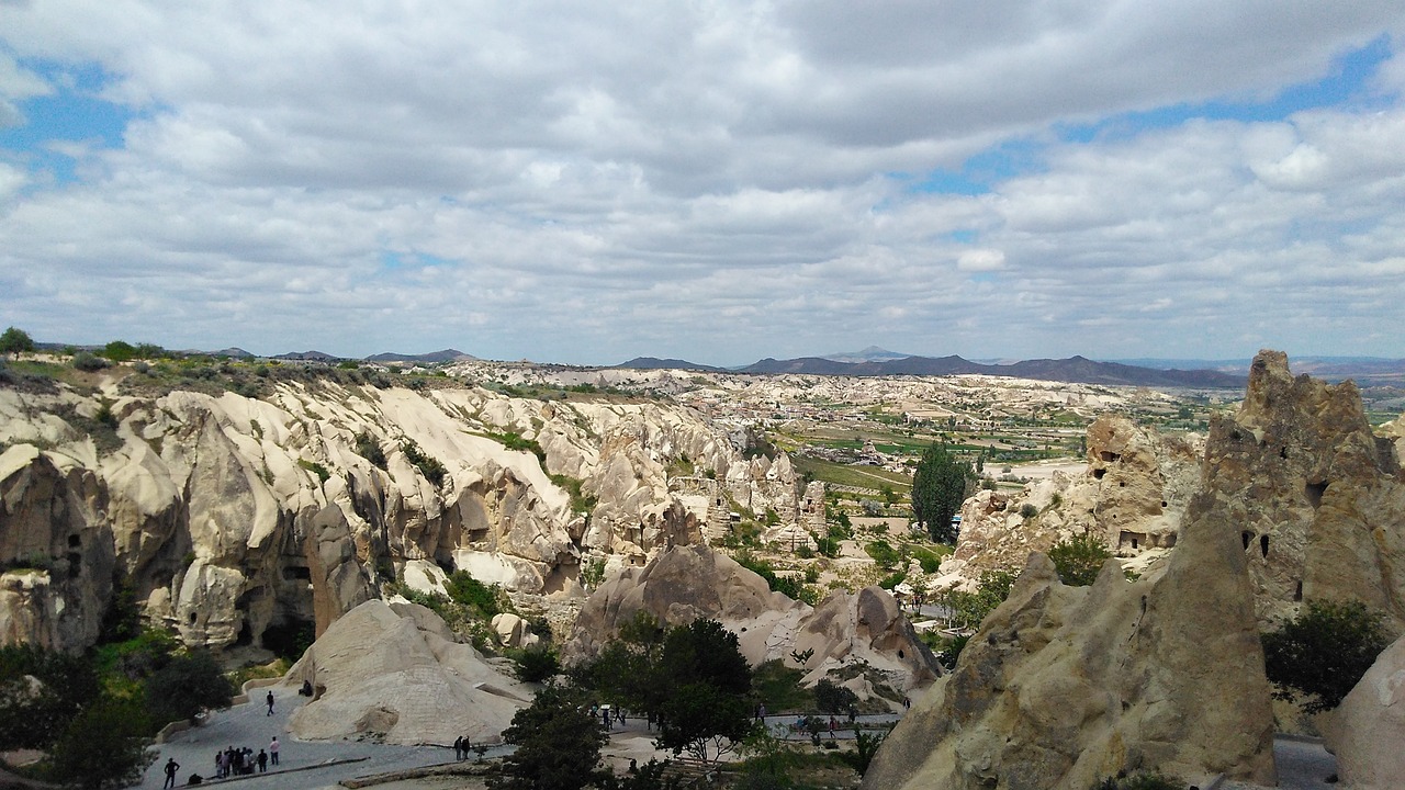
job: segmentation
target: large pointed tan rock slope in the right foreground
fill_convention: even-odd
[[[1169,562],[1089,588],[1033,554],[865,789],[1085,789],[1121,769],[1274,784],[1273,713],[1235,524],[1197,498]],[[1198,507],[1197,507],[1198,503]]]

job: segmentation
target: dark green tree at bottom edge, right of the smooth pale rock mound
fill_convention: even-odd
[[[513,715],[503,739],[517,751],[503,758],[492,776],[493,790],[579,790],[603,779],[600,748],[608,737],[587,707],[580,689],[548,685]]]

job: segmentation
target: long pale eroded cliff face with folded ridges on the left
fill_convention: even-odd
[[[499,439],[509,433],[537,441],[541,458],[509,450]],[[91,609],[110,599],[115,566],[149,620],[212,648],[257,647],[270,628],[298,623],[320,634],[412,561],[465,568],[520,595],[579,595],[583,555],[642,564],[702,540],[708,500],[669,491],[683,457],[753,503],[785,509],[794,482],[788,462],[743,460],[686,408],[472,388],[280,382],[261,399],[0,389],[0,441],[62,468],[45,496],[67,503],[52,529],[53,519],[0,513],[7,547],[42,545],[56,564],[69,551],[51,540],[59,531],[63,541],[107,536],[107,565],[83,576]],[[410,446],[443,467],[441,481],[426,477]],[[792,488],[790,496],[794,513]],[[0,562],[21,558],[7,548]],[[10,583],[3,638],[91,644],[96,619],[52,624],[60,609],[76,621],[73,582],[41,582],[27,574]]]

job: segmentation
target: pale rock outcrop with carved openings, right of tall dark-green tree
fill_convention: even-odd
[[[1055,472],[1023,491],[981,491],[961,506],[961,534],[937,586],[971,583],[985,571],[1023,566],[1031,551],[1093,534],[1121,557],[1176,544],[1200,481],[1198,437],[1168,437],[1125,417],[1087,427],[1087,470]],[[1021,510],[1031,505],[1037,514]]]

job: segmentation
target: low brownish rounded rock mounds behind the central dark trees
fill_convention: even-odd
[[[603,583],[580,610],[566,659],[594,656],[636,611],[667,626],[717,620],[738,634],[753,666],[767,661],[801,666],[791,652],[813,649],[804,663],[806,685],[860,663],[896,692],[926,686],[937,676],[932,652],[887,590],[835,592],[811,607],[771,592],[766,579],[705,545],[676,547]],[[863,699],[877,693],[870,678],[851,678],[846,685]]]

